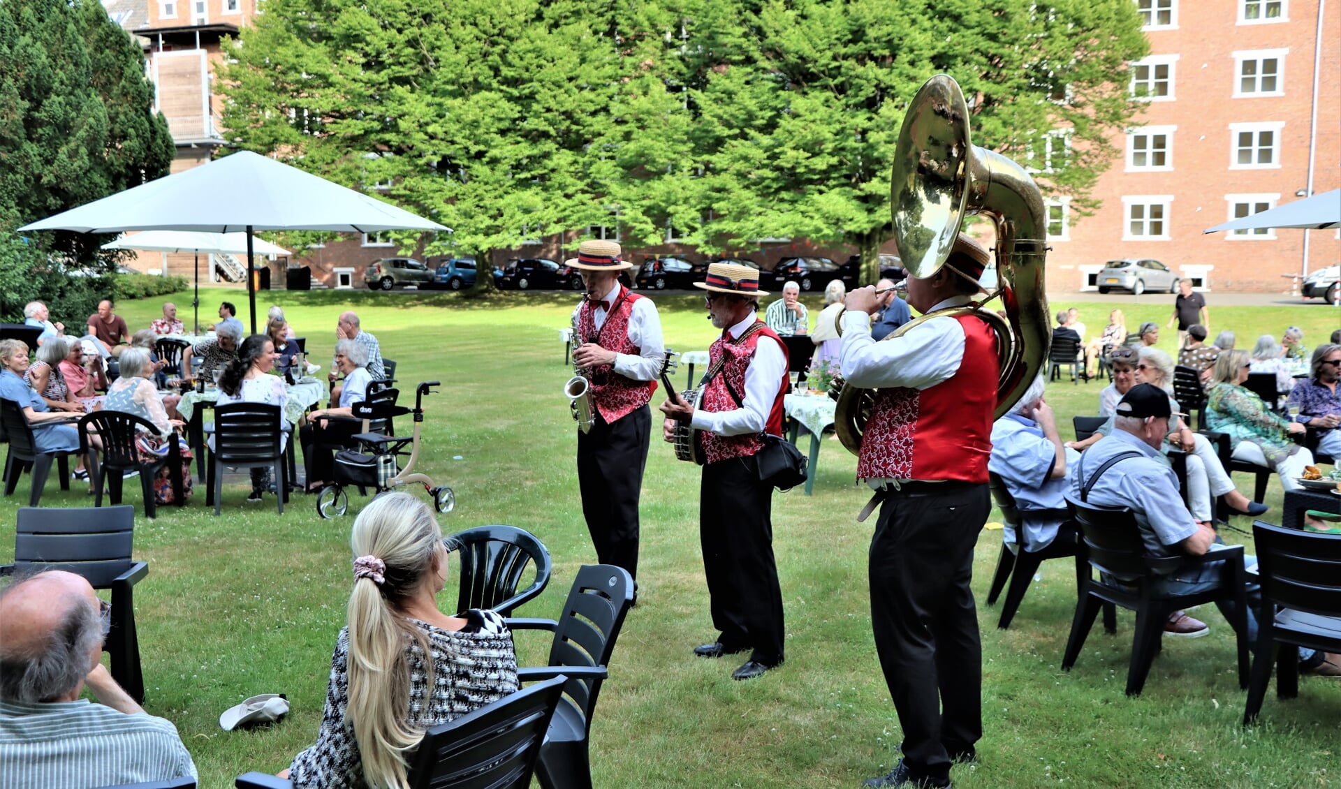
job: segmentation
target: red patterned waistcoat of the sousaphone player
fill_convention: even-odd
[[[916,390],[889,387],[861,435],[858,480],[987,482],[996,409],[996,335],[983,320],[960,315],[964,358],[949,379]]]

